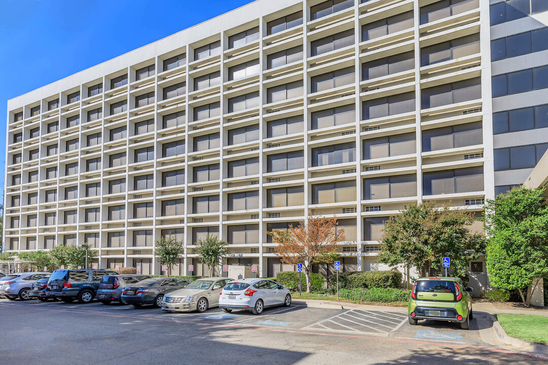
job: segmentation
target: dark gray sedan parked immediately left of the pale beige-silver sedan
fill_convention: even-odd
[[[123,303],[132,304],[137,308],[144,304],[152,304],[156,308],[160,308],[164,294],[182,289],[188,284],[188,281],[178,277],[151,277],[135,283],[133,286],[125,287],[120,299]]]

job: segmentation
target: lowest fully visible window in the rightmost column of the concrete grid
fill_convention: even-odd
[[[423,173],[423,195],[481,191],[483,191],[483,167]]]

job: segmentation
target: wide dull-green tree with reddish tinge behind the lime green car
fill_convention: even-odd
[[[484,234],[473,234],[467,227],[475,221],[473,212],[426,201],[404,206],[400,213],[385,222],[380,263],[414,266],[424,277],[449,257],[453,275],[464,279],[470,260],[484,252]]]

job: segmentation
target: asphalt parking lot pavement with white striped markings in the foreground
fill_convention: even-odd
[[[0,364],[545,364],[482,340],[471,329],[401,311],[216,309],[175,314],[130,305],[0,299]],[[301,304],[301,305],[299,305]]]

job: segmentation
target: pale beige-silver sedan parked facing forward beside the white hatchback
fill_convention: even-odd
[[[169,312],[205,312],[219,305],[219,293],[233,281],[227,277],[204,277],[191,282],[184,289],[165,294],[162,309]]]

